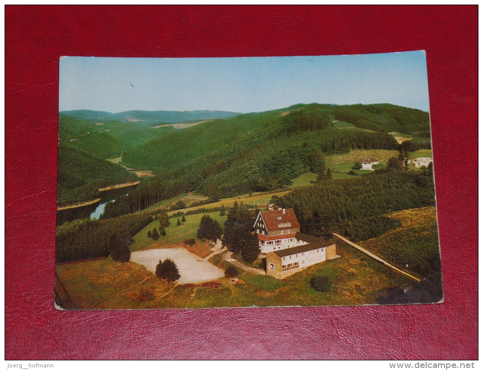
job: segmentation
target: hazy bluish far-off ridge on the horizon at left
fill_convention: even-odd
[[[121,122],[133,122],[151,126],[158,123],[178,123],[214,120],[217,118],[229,118],[239,115],[235,112],[222,110],[128,110],[127,112],[109,113],[100,110],[63,110],[59,112],[65,116],[94,121],[116,120]]]

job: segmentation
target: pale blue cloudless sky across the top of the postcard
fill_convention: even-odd
[[[424,51],[301,57],[61,57],[59,110],[227,110],[391,103],[429,112]]]

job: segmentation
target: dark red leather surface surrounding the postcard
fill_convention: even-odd
[[[477,11],[477,6],[7,6],[6,359],[477,358]],[[428,61],[443,304],[54,309],[59,56],[420,49]]]

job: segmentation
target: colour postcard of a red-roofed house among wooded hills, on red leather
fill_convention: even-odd
[[[442,302],[424,51],[59,65],[57,309]]]

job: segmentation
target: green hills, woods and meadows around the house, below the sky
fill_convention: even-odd
[[[248,114],[61,112],[58,205],[139,184],[106,200],[99,219],[84,215],[57,227],[57,302],[144,309],[437,301],[432,165],[407,165],[417,157],[432,157],[429,115],[391,104],[295,104]],[[340,241],[323,264],[281,280],[268,276],[266,256],[255,250],[245,261],[233,245],[249,242],[258,211],[269,207],[293,209],[311,238],[341,234],[430,281],[410,281]],[[208,217],[225,233],[217,242],[198,233]],[[158,249],[188,251],[190,263],[226,276],[177,284],[130,261],[132,253]],[[330,289],[315,289],[314,277]]]

